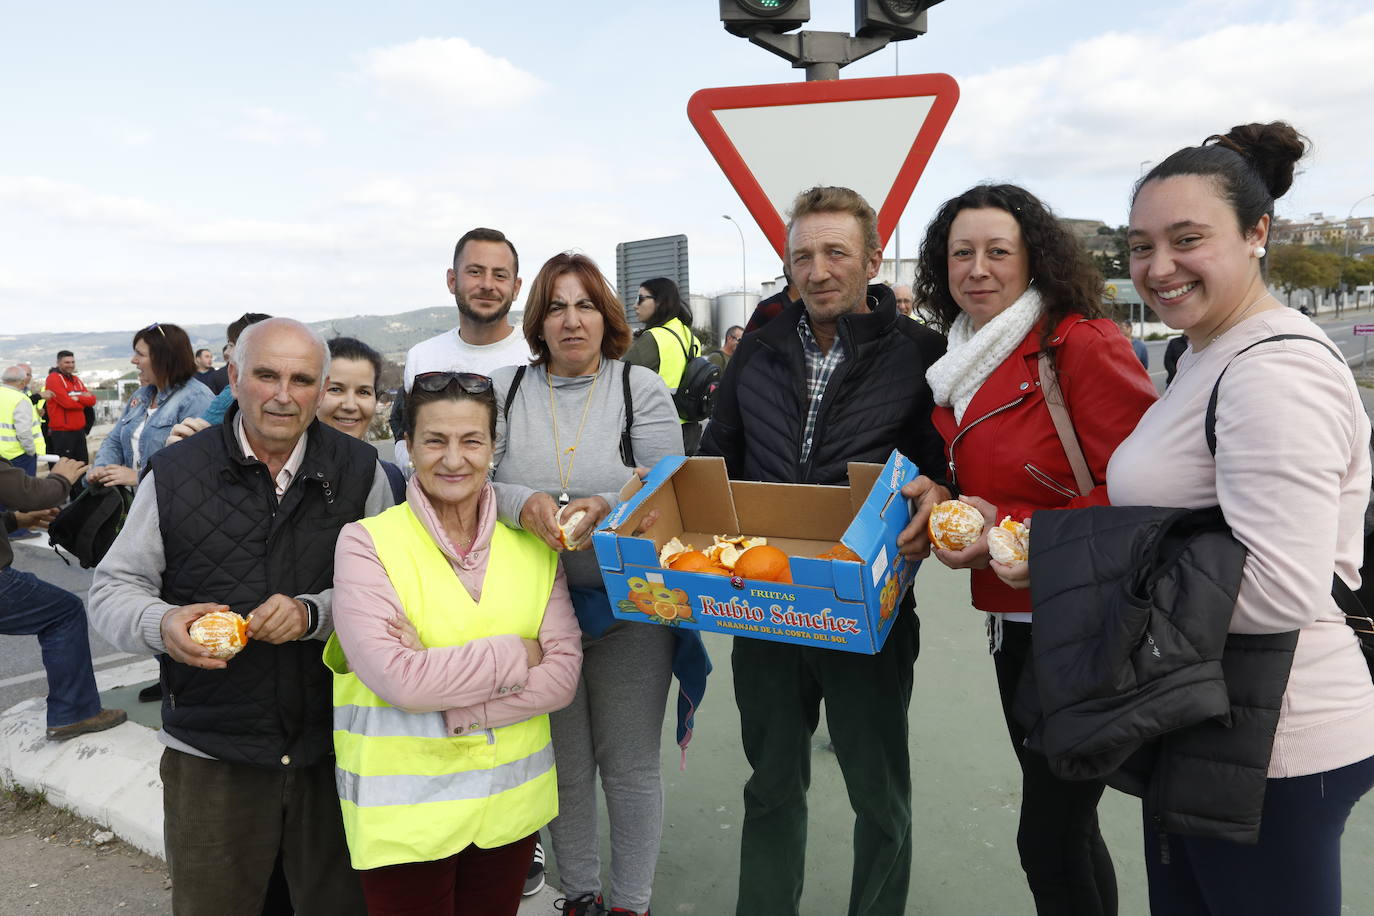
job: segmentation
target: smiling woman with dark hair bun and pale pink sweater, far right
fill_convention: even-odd
[[[1304,152],[1287,124],[1241,125],[1161,161],[1131,202],[1131,279],[1189,347],[1112,457],[1112,504],[1220,505],[1246,549],[1223,621],[1227,726],[1165,735],[1145,791],[1160,916],[1336,916],[1341,834],[1374,786],[1374,684],[1333,596],[1333,575],[1359,584],[1370,423],[1334,345],[1264,279],[1274,202]],[[999,574],[1024,586],[1030,569]],[[1290,634],[1292,655],[1243,648]]]

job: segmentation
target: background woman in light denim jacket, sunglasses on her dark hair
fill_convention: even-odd
[[[154,452],[164,448],[172,427],[201,416],[214,400],[195,380],[195,353],[185,331],[174,324],[150,324],[133,335],[139,389],[114,428],[104,437],[87,481],[106,486],[137,486]]]

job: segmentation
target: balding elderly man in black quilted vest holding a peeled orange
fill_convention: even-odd
[[[297,913],[363,913],[331,744],[334,541],[392,504],[371,445],[316,422],[324,341],[298,321],[243,331],[221,426],[158,452],[91,585],[91,622],[162,669],[164,816],[181,916],[262,911],[280,856]],[[210,658],[190,626],[251,614]]]

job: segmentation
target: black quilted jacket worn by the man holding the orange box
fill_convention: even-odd
[[[926,369],[944,356],[945,341],[899,316],[886,286],[868,287],[868,306],[871,312],[838,321],[846,354],[826,389],[805,464],[801,302],[741,341],[716,391],[699,453],[724,457],[734,479],[838,485],[849,479],[849,461],[881,464],[897,449],[923,474],[941,479],[944,442],[930,423],[934,402]]]

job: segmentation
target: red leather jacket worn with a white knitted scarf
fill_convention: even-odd
[[[982,383],[955,423],[954,409],[932,415],[945,441],[949,479],[959,493],[998,507],[998,519],[1030,518],[1036,509],[1107,504],[1107,460],[1158,397],[1131,350],[1106,319],[1069,316],[1050,339],[1059,389],[1095,489],[1077,496],[1073,470],[1040,393],[1040,327]],[[973,606],[982,611],[1029,611],[1030,591],[1002,584],[991,569],[973,570]]]

